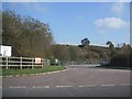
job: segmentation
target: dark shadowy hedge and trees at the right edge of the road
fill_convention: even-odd
[[[111,66],[127,66],[132,65],[132,47],[129,44],[123,43],[122,47],[114,47],[112,42],[107,42],[109,45],[109,58]]]

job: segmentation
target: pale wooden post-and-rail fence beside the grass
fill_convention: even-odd
[[[40,58],[40,62],[36,62],[36,58],[31,57],[3,57],[0,56],[0,67],[9,69],[9,68],[36,68],[50,65],[50,59]]]

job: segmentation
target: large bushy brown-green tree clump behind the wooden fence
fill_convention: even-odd
[[[50,25],[14,11],[2,12],[2,44],[12,46],[13,56],[47,56],[53,44]]]

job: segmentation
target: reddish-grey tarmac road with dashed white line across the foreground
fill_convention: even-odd
[[[130,97],[130,70],[68,66],[48,75],[3,77],[3,97]]]

